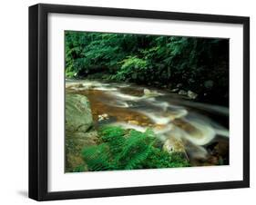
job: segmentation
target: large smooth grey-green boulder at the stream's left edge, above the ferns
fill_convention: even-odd
[[[93,126],[93,118],[87,97],[66,94],[66,131],[87,132]]]

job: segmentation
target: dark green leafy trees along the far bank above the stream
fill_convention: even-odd
[[[67,77],[152,84],[228,104],[229,40],[66,32]]]

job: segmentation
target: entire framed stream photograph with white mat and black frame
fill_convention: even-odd
[[[29,197],[250,185],[250,19],[29,7]]]

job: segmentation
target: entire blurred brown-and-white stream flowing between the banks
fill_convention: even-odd
[[[229,164],[229,109],[168,90],[132,83],[67,80],[66,91],[86,95],[96,128],[152,129],[167,151],[186,153],[192,166]]]

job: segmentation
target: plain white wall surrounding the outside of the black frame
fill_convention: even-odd
[[[35,204],[27,195],[28,152],[28,5],[33,0],[1,2],[0,31],[0,203]],[[53,0],[40,3],[92,5],[216,15],[251,16],[251,189],[210,190],[89,200],[50,201],[50,204],[251,204],[256,193],[256,13],[252,0]],[[254,105],[254,106],[253,106]],[[253,116],[254,115],[254,116]],[[218,173],[216,173],[218,174]]]

